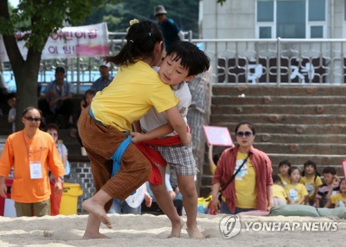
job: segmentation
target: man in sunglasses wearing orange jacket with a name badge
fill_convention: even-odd
[[[0,196],[7,197],[6,177],[13,169],[11,199],[17,217],[50,215],[48,170],[55,177],[55,192],[62,192],[64,165],[52,136],[39,130],[42,113],[35,107],[24,110],[24,129],[8,136],[0,158]]]

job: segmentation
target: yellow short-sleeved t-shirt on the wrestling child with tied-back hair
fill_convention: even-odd
[[[91,110],[104,125],[131,131],[131,124],[151,107],[162,112],[177,103],[170,85],[164,84],[149,64],[138,61],[121,66],[113,82],[96,93]]]

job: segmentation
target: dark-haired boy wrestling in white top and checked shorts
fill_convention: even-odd
[[[192,80],[195,75],[207,71],[209,66],[210,60],[206,54],[190,42],[174,42],[167,50],[167,55],[161,64],[159,75],[165,84],[171,85],[174,95],[179,99],[179,112],[181,113],[181,116],[183,116],[185,122],[187,122],[186,116],[192,98],[186,82]],[[165,116],[165,114],[158,113],[154,108],[152,108],[143,118],[140,119],[140,126],[139,123],[136,126],[136,130],[141,129],[145,134],[141,135],[139,133],[131,133],[131,135],[134,134],[138,137],[134,137],[134,143],[140,140],[150,140],[162,136],[165,137],[159,139],[162,142],[160,146],[150,145],[149,147],[155,149],[156,152],[159,152],[167,162],[167,165],[170,165],[170,167],[176,170],[178,186],[183,195],[183,205],[185,205],[184,208],[188,219],[186,222],[188,226],[188,234],[190,237],[201,239],[204,238],[204,236],[197,228],[198,195],[194,183],[194,175],[197,173],[197,169],[192,154],[192,144],[187,147],[175,143],[174,145],[169,145],[167,142],[172,140],[172,138],[176,136],[176,133],[173,132],[170,125],[167,125],[167,122],[167,116]],[[165,129],[162,129],[162,125]],[[162,129],[162,131],[154,130],[157,127]],[[155,168],[156,167],[153,167],[154,170]],[[158,170],[161,174],[161,178],[164,178],[165,167],[160,165]],[[183,221],[174,208],[170,194],[168,194],[166,190],[165,183],[162,183],[161,185],[154,184],[151,181],[149,185],[156,202],[172,223],[172,232],[170,237],[180,237]]]

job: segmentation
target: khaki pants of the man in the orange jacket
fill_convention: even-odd
[[[42,217],[51,214],[51,203],[49,200],[40,201],[39,203],[18,203],[15,201],[15,208],[17,217]]]

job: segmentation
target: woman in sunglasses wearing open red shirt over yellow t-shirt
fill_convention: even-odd
[[[239,122],[235,127],[237,145],[221,154],[212,179],[212,207],[215,212],[268,211],[273,206],[271,160],[253,147],[255,134],[251,122]],[[217,199],[220,188],[221,203]]]

